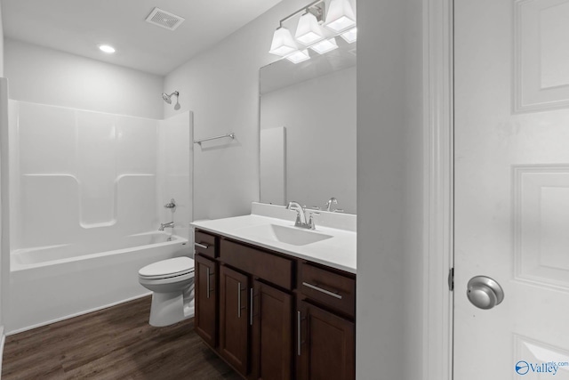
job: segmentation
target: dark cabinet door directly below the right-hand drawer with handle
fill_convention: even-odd
[[[297,333],[299,379],[356,378],[354,322],[300,301]]]

